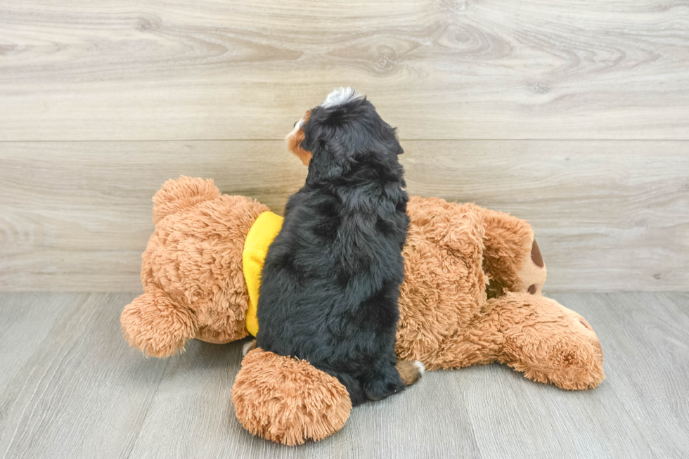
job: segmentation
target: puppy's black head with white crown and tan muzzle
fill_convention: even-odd
[[[395,129],[380,118],[366,96],[352,88],[328,94],[321,105],[308,110],[287,136],[288,148],[305,165],[347,168],[364,157],[387,162],[403,153]]]

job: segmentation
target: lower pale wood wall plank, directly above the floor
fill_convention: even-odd
[[[689,143],[404,141],[411,194],[531,221],[548,291],[689,288]],[[151,197],[180,174],[282,213],[281,141],[0,143],[0,290],[139,290]]]

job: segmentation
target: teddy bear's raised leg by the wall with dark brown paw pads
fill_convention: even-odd
[[[476,209],[486,230],[483,268],[490,279],[488,297],[506,292],[541,295],[547,271],[532,227],[510,214]]]

